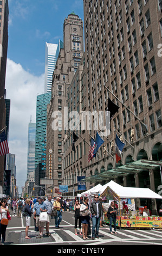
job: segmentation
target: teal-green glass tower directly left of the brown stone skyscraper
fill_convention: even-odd
[[[35,169],[42,161],[43,142],[46,138],[47,105],[50,103],[51,92],[37,96],[36,103],[36,136],[35,136]],[[42,166],[43,167],[43,166]]]

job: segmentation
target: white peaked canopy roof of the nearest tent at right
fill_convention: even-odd
[[[107,186],[106,186],[107,185]],[[150,190],[150,188],[140,188],[140,187],[123,187],[113,180],[108,182],[105,187],[105,190],[103,191],[104,187],[101,188],[99,191],[100,194],[104,194],[106,190],[111,188],[112,191],[115,192],[120,198],[155,198],[155,199],[162,199],[162,197]]]

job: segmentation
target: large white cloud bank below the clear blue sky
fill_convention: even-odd
[[[9,150],[16,155],[19,193],[27,178],[28,123],[36,118],[36,96],[44,93],[44,74],[37,77],[20,64],[7,60],[5,88],[10,99]]]

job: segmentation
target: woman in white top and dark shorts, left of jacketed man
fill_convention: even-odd
[[[84,202],[81,204],[80,207],[80,212],[85,212],[83,213],[84,216],[81,216],[81,223],[82,223],[82,234],[83,234],[83,239],[86,240],[88,239],[87,237],[87,231],[88,231],[88,224],[90,223],[90,216],[89,216],[89,204],[88,204],[88,198],[85,197]]]

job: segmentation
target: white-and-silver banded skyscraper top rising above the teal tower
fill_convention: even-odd
[[[56,64],[56,50],[56,44],[48,44],[46,42],[44,93],[51,91],[53,72]]]

